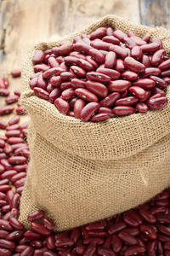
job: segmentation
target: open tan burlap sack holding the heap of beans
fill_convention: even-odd
[[[149,200],[170,183],[170,104],[159,111],[136,113],[103,123],[84,123],[62,113],[29,88],[35,49],[93,32],[99,26],[132,30],[162,39],[170,54],[170,32],[138,26],[107,15],[58,42],[37,44],[23,68],[22,103],[31,117],[28,143],[31,162],[20,203],[20,221],[44,209],[67,230],[123,212]],[[167,90],[170,99],[170,90]]]

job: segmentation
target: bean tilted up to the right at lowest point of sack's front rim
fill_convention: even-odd
[[[82,121],[88,121],[97,110],[99,110],[99,103],[90,102],[84,108],[82,108],[80,118]]]

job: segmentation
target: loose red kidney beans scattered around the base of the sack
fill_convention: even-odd
[[[20,76],[19,71],[12,74]],[[18,220],[30,155],[27,123],[20,124],[26,110],[19,103],[15,108],[20,91],[9,96],[6,78],[0,79],[0,95],[5,96],[0,115],[14,113],[8,123],[0,118],[5,131],[0,135],[0,256],[170,256],[169,191],[127,212],[61,233],[54,232],[45,212],[31,212],[31,230],[26,230]]]

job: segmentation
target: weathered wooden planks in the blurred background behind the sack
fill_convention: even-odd
[[[0,76],[21,67],[33,44],[108,14],[170,29],[169,0],[0,0]],[[9,79],[11,90],[20,89],[20,79]]]

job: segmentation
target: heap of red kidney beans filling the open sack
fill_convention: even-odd
[[[99,27],[59,47],[37,50],[30,87],[82,121],[145,113],[167,105],[170,59],[160,38]]]

